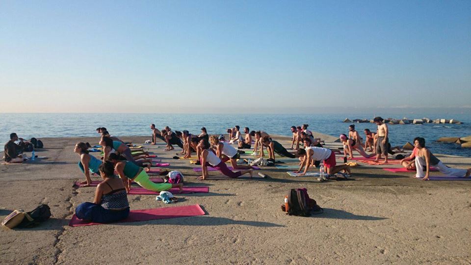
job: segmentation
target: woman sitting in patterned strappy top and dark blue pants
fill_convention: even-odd
[[[78,219],[97,223],[109,223],[126,219],[129,215],[129,202],[123,182],[114,175],[113,163],[106,161],[100,165],[103,179],[95,191],[93,203],[79,204],[75,209]]]

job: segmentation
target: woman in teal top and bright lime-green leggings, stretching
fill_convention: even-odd
[[[130,161],[120,161],[118,159],[119,155],[117,154],[109,155],[109,160],[115,165],[116,172],[123,180],[128,193],[131,190],[132,181],[137,183],[139,186],[151,191],[169,190],[173,187],[180,188],[180,191],[183,189],[183,183],[154,183],[149,180],[149,175],[147,175],[147,172],[144,170],[144,168],[139,167]]]

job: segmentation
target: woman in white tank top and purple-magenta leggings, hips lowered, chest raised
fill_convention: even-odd
[[[203,176],[199,177],[199,180],[205,180],[206,178],[208,178],[208,166],[214,167],[229,178],[237,178],[247,173],[249,173],[250,177],[252,178],[252,174],[254,172],[253,169],[234,172],[227,168],[226,163],[224,163],[214,154],[214,151],[211,149],[208,140],[201,139],[199,146],[203,150],[203,152],[201,153],[201,168],[203,170]]]

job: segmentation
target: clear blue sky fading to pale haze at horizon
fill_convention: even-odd
[[[471,107],[469,0],[0,0],[0,36],[0,112]]]

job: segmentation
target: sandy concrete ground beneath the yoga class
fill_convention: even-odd
[[[148,138],[122,137],[134,143]],[[339,145],[325,138],[327,146]],[[290,146],[289,138],[277,139]],[[212,171],[220,180],[201,182],[195,165],[171,159],[176,152],[164,152],[159,142],[146,147],[182,171],[185,185],[208,185],[209,193],[177,195],[175,205],[153,195],[129,195],[131,210],[199,204],[206,215],[74,228],[67,224],[75,207],[92,201],[95,188],[72,187],[84,180],[73,147],[78,141],[96,144],[98,137],[42,140],[46,148],[37,155],[49,159],[0,165],[0,218],[40,203],[53,216],[34,229],[1,230],[1,264],[471,263],[471,181],[424,182],[411,173],[360,164],[349,181],[319,183],[270,167],[261,171],[267,179],[233,180]],[[452,167],[471,164],[469,158],[438,157]],[[282,212],[283,196],[296,187],[307,187],[324,212]]]

